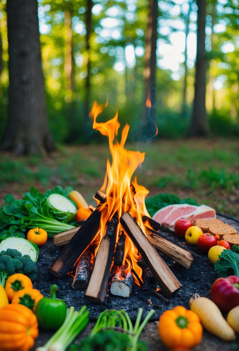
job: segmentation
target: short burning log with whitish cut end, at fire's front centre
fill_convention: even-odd
[[[125,268],[125,266],[119,267],[111,280],[110,292],[112,295],[129,297],[131,294],[135,280],[130,270],[123,276]]]

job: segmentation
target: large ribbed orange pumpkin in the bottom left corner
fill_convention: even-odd
[[[37,318],[29,308],[9,304],[0,309],[1,351],[28,351],[37,336]]]

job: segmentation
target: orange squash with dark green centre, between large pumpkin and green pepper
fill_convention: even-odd
[[[30,310],[35,312],[36,306],[43,298],[43,295],[37,289],[25,287],[19,290],[12,299],[12,304],[21,304],[27,306]]]

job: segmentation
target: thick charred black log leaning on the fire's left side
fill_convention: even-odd
[[[100,227],[100,206],[96,207],[95,211],[91,213],[76,234],[70,239],[69,243],[63,247],[56,259],[50,264],[48,270],[53,276],[57,278],[66,276],[94,239]]]

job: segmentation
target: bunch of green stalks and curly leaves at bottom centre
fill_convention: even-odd
[[[138,338],[155,311],[151,310],[140,325],[142,312],[143,309],[139,308],[133,327],[127,312],[105,310],[98,317],[89,337],[71,346],[70,351],[146,351],[145,343],[138,342]],[[117,343],[114,338],[118,340]]]

